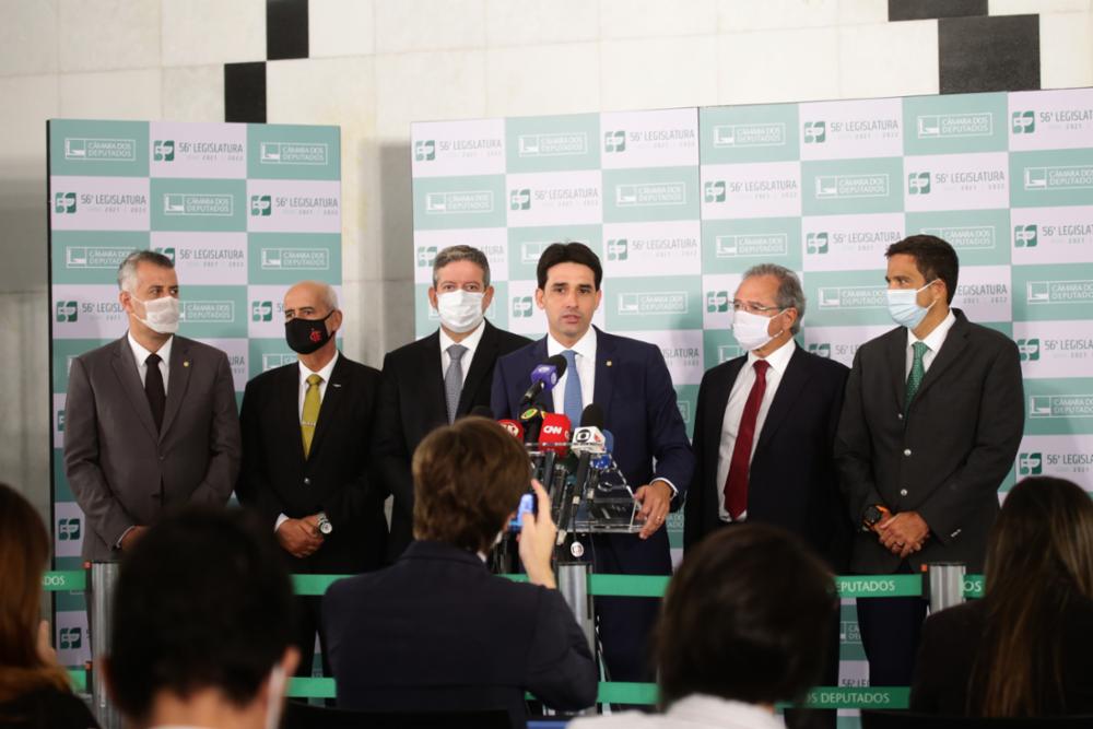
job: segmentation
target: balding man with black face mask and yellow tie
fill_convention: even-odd
[[[291,573],[375,569],[387,544],[383,497],[366,478],[379,373],[338,352],[342,313],[328,284],[294,285],[284,315],[299,361],[247,383],[236,494],[274,531]],[[296,673],[309,677],[319,598],[299,603]]]

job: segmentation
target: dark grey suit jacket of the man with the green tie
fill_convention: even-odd
[[[963,562],[982,572],[998,514],[998,486],[1021,444],[1024,395],[1011,339],[953,309],[949,330],[904,418],[907,330],[897,327],[858,350],[835,442],[856,530],[850,568],[890,573],[900,557],[862,532],[871,504],[918,512],[930,527],[915,572],[927,562]]]

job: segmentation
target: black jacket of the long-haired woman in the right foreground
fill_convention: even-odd
[[[1030,585],[1030,589],[1042,587]],[[910,686],[912,710],[966,714],[968,678],[980,652],[986,608],[983,600],[972,600],[927,619]],[[1047,713],[1093,714],[1093,602],[1081,600],[1060,611],[1056,630],[1062,636],[1060,689],[1066,704]]]

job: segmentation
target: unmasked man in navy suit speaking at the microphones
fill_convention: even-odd
[[[678,509],[694,470],[694,456],[672,388],[668,365],[655,344],[615,337],[591,326],[603,292],[600,260],[581,243],[548,246],[536,271],[536,303],[546,314],[545,338],[497,361],[493,411],[517,418],[536,365],[554,355],[567,361],[545,410],[567,415],[576,427],[585,404],[595,402],[614,436],[614,459],[645,522],[637,536],[592,538],[598,573],[669,575],[672,571],[665,518]],[[654,459],[656,467],[654,468]],[[659,601],[600,598],[599,634],[614,681],[651,680],[647,638]]]

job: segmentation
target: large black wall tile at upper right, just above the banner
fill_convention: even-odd
[[[1039,89],[1039,16],[938,21],[942,94]]]

